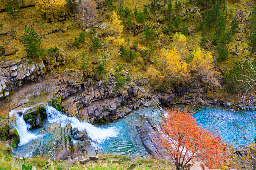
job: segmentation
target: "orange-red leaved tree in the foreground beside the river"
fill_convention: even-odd
[[[226,144],[215,131],[197,126],[186,109],[166,111],[166,119],[160,125],[158,145],[163,154],[171,158],[176,169],[181,169],[196,157],[208,166],[215,167],[224,160]]]

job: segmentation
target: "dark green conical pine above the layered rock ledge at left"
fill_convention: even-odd
[[[41,46],[42,37],[36,34],[33,26],[29,27],[25,25],[25,32],[22,36],[23,44],[25,44],[24,51],[27,53],[28,57],[37,58],[43,52]]]

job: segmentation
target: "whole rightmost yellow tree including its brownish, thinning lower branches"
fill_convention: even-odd
[[[220,87],[219,80],[216,77],[218,73],[214,70],[214,59],[211,53],[197,48],[192,55],[193,59],[188,64],[191,74],[214,88]]]

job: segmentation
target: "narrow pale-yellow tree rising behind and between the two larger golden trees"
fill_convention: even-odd
[[[186,36],[177,32],[173,37],[173,41],[177,51],[181,55],[181,60],[185,59],[188,55],[188,50],[186,48]]]

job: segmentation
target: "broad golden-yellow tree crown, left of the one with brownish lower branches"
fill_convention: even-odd
[[[166,60],[168,74],[182,77],[188,75],[187,63],[180,61],[181,56],[175,48],[171,51],[162,48],[160,55]]]

